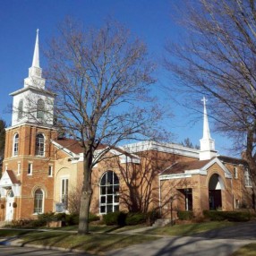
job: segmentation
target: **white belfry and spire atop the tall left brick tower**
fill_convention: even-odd
[[[19,124],[53,125],[55,95],[45,89],[46,80],[42,77],[39,65],[38,31],[29,76],[24,86],[10,95],[13,96],[12,126]]]

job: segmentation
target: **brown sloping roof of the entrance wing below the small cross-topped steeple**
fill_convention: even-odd
[[[177,162],[174,165],[167,167],[166,170],[161,173],[161,175],[183,174],[185,171],[201,169],[201,167],[206,166],[210,161],[211,159]]]

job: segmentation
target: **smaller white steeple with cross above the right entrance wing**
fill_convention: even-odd
[[[217,156],[217,151],[215,150],[215,142],[210,138],[209,133],[209,122],[208,122],[208,115],[206,111],[206,98],[202,98],[201,101],[203,102],[203,136],[200,140],[200,160],[207,160]]]

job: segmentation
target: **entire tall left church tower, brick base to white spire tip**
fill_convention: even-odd
[[[55,94],[46,90],[39,65],[38,30],[32,65],[13,96],[12,125],[6,129],[0,220],[37,218],[53,211],[55,151],[52,140]]]

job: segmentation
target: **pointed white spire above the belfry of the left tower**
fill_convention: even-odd
[[[29,77],[24,79],[24,87],[36,87],[44,90],[46,80],[42,78],[42,69],[39,65],[39,38],[38,38],[39,30],[37,30],[36,44],[34,49],[33,61],[32,65],[29,68]]]

